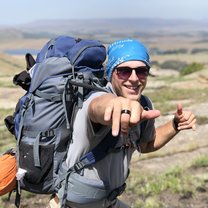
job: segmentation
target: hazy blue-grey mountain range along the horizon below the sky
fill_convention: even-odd
[[[108,41],[112,36],[129,34],[140,36],[165,33],[192,33],[203,31],[208,34],[208,20],[167,20],[152,18],[125,19],[70,19],[39,20],[13,28],[0,27],[0,39],[51,38],[60,34],[95,37]]]

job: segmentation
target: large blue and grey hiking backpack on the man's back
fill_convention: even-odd
[[[28,71],[14,77],[26,94],[6,125],[17,139],[19,187],[54,193],[70,144],[77,108],[91,90],[103,90],[105,47],[95,40],[59,36],[50,40],[36,60],[26,56]]]

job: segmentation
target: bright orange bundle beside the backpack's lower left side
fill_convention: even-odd
[[[16,157],[12,152],[0,156],[0,196],[16,187]]]

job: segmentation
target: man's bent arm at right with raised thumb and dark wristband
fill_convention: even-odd
[[[155,139],[149,143],[140,143],[143,153],[153,152],[167,144],[180,130],[196,129],[196,118],[191,111],[183,111],[182,105],[177,105],[174,119],[156,128]],[[175,126],[176,125],[176,126]]]

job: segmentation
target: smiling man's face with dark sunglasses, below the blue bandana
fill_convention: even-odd
[[[119,64],[112,74],[112,86],[118,96],[138,100],[147,84],[148,67],[141,61]]]

